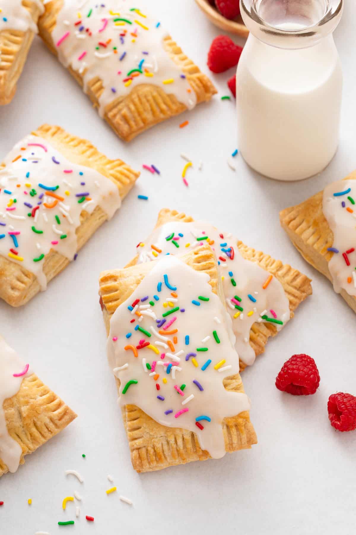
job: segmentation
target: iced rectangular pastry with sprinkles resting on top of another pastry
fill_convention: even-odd
[[[106,271],[99,284],[133,468],[160,470],[256,444],[208,244],[179,259]]]

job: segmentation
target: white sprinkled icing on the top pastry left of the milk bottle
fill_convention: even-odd
[[[101,117],[107,104],[117,97],[128,95],[133,87],[143,83],[159,86],[175,95],[188,109],[194,108],[196,95],[193,89],[185,78],[181,78],[184,77],[181,68],[163,49],[163,39],[168,33],[161,25],[157,27],[159,21],[148,14],[130,11],[132,6],[137,7],[137,3],[64,0],[52,32],[60,62],[84,75],[85,92],[90,80],[96,77],[102,80],[104,91],[99,97]],[[116,19],[126,19],[131,24]],[[131,82],[124,82],[128,72],[139,68],[141,60],[144,60],[141,65],[143,73],[133,77]],[[170,79],[174,81],[163,83]],[[125,86],[125,83],[130,85]]]

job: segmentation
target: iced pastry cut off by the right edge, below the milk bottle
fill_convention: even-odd
[[[356,172],[280,212],[280,221],[305,260],[334,284],[356,312]]]

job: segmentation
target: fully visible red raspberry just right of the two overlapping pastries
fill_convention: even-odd
[[[309,355],[292,355],[284,362],[275,380],[275,386],[282,392],[295,396],[315,394],[320,383],[317,364]]]

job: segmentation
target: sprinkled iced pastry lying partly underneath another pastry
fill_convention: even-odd
[[[147,262],[163,255],[194,250],[204,239],[215,250],[225,302],[236,336],[240,370],[263,353],[266,342],[294,316],[311,295],[310,279],[289,265],[255,251],[204,221],[194,221],[176,210],[160,211],[153,233],[137,247],[129,263]]]

